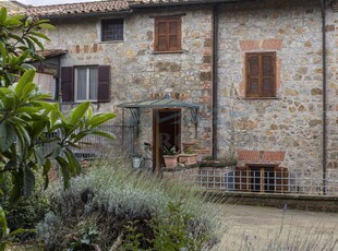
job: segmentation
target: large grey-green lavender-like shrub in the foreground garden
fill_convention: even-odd
[[[48,191],[52,210],[37,226],[46,250],[206,250],[217,239],[209,204],[192,189],[129,168],[125,159]]]

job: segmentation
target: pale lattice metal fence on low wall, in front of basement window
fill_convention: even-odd
[[[203,189],[241,192],[338,195],[338,174],[275,170],[200,169],[195,184]],[[324,186],[325,183],[325,186]]]

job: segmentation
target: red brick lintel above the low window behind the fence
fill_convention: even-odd
[[[243,163],[273,164],[282,163],[286,157],[285,151],[252,151],[238,150],[238,160]]]

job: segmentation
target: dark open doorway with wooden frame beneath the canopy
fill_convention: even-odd
[[[153,111],[153,167],[159,170],[165,166],[164,145],[167,148],[181,146],[181,109],[157,109]]]

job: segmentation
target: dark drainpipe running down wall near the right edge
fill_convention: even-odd
[[[326,136],[327,136],[327,127],[326,127],[326,16],[325,16],[325,0],[319,0],[322,7],[322,41],[323,41],[323,194],[326,194],[326,166],[327,166],[327,147],[326,147]]]

